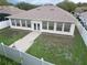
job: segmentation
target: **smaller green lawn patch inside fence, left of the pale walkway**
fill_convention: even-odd
[[[0,30],[0,43],[3,42],[6,45],[10,45],[28,33],[29,31],[6,28],[3,30]]]

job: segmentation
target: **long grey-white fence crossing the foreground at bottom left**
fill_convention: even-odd
[[[2,43],[0,44],[0,55],[13,59],[14,62],[20,63],[21,65],[54,65],[43,61],[43,58],[39,59],[30,54],[20,52]]]

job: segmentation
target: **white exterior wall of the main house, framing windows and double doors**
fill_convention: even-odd
[[[40,30],[34,30],[34,23],[40,23]],[[21,21],[20,21],[20,24],[21,24]],[[26,25],[26,24],[25,24]],[[75,24],[72,24],[70,25],[70,32],[64,32],[64,23],[63,23],[63,29],[62,31],[56,31],[56,22],[54,22],[54,30],[48,30],[48,22],[47,22],[47,30],[43,30],[42,29],[42,21],[31,21],[31,29],[28,28],[28,26],[13,26],[11,24],[11,21],[10,21],[10,26],[13,28],[13,29],[22,29],[22,30],[31,30],[31,31],[40,31],[40,32],[48,32],[48,33],[56,33],[56,34],[64,34],[64,35],[74,35],[74,30],[75,30]]]

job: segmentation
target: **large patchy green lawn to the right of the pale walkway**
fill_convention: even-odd
[[[77,29],[74,37],[42,34],[26,53],[55,65],[87,65],[87,47]]]

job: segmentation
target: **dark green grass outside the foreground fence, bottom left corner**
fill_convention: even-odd
[[[0,55],[0,65],[20,65],[20,64]]]

